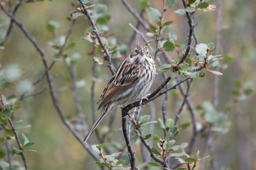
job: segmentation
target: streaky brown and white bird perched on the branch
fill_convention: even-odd
[[[140,100],[141,105],[143,99],[148,100],[146,94],[155,79],[155,71],[155,61],[150,56],[148,48],[141,44],[133,47],[130,55],[119,64],[117,71],[103,90],[98,107],[98,110],[102,108],[101,114],[83,142],[86,143],[106,113],[115,105],[123,105],[137,100]]]

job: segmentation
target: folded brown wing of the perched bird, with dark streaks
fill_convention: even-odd
[[[117,96],[127,91],[127,89],[138,80],[140,73],[139,65],[131,64],[124,60],[104,89],[98,110],[112,99],[115,99]]]

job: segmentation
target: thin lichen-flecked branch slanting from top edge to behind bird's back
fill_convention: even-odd
[[[91,26],[92,26],[92,28],[93,28],[93,32],[96,34],[97,39],[98,39],[98,42],[100,42],[103,51],[104,51],[105,54],[107,55],[107,61],[108,61],[108,63],[109,63],[109,64],[107,65],[107,67],[110,68],[111,74],[114,75],[116,69],[114,68],[114,66],[113,66],[113,64],[112,64],[112,60],[111,60],[110,53],[109,53],[109,51],[106,49],[105,44],[101,41],[101,36],[100,36],[100,34],[98,33],[97,28],[96,28],[96,26],[95,26],[95,24],[94,24],[94,22],[93,22],[93,19],[91,18],[91,15],[89,14],[88,10],[86,9],[86,6],[85,6],[84,2],[83,2],[82,0],[78,0],[78,1],[79,1],[79,2],[81,3],[81,5],[82,5],[82,8],[83,8],[82,13],[88,17],[88,19],[89,19],[89,21],[90,21],[90,23],[91,23]]]

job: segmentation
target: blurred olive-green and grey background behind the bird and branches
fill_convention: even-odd
[[[3,1],[3,0],[2,0]],[[151,6],[159,10],[162,9],[162,1],[149,0]],[[6,2],[6,1],[5,1]],[[12,0],[12,3],[15,3]],[[140,0],[128,0],[130,5],[140,11]],[[7,2],[6,2],[7,3]],[[76,2],[75,2],[76,3]],[[133,30],[128,23],[136,25],[136,19],[123,6],[121,0],[97,0],[96,3],[107,6],[107,14],[111,15],[108,23],[110,36],[116,38],[113,43],[125,44]],[[212,4],[216,5],[217,0]],[[177,34],[177,43],[183,44],[188,34],[187,19],[174,13],[175,10],[183,8],[182,2],[177,1],[173,8],[168,8],[165,14],[165,20],[174,20],[170,32]],[[45,51],[48,62],[54,59],[55,50],[49,45],[56,37],[67,34],[70,21],[66,17],[70,16],[70,11],[75,9],[70,0],[45,0],[35,3],[23,4],[17,12],[17,18],[21,20],[28,32],[33,35],[37,42]],[[227,115],[230,122],[229,131],[225,135],[215,138],[210,156],[218,162],[219,169],[230,168],[230,170],[256,170],[256,95],[252,92],[250,95],[236,95],[234,90],[239,92],[243,88],[255,88],[256,82],[256,3],[254,0],[223,0],[222,2],[222,33],[220,54],[229,56],[231,61],[225,62],[221,66],[223,76],[219,78],[219,105],[218,110]],[[49,21],[56,21],[59,24],[58,29],[53,33],[46,29]],[[196,34],[199,42],[215,42],[216,39],[216,10],[209,13],[198,12],[195,14]],[[0,31],[5,33],[9,25],[9,17],[0,11]],[[67,54],[80,54],[79,62],[76,63],[77,79],[79,80],[79,101],[82,105],[84,118],[89,126],[91,119],[91,67],[92,56],[87,53],[93,48],[90,42],[82,40],[90,25],[86,17],[79,17],[73,27],[71,39],[75,46],[66,51]],[[141,29],[143,30],[143,29]],[[135,43],[142,42],[137,36]],[[154,43],[152,44],[155,46]],[[128,47],[130,48],[130,47]],[[170,52],[172,59],[177,59],[175,52]],[[100,55],[99,55],[100,57]],[[114,59],[117,64],[124,58],[124,55]],[[162,59],[165,63],[164,59]],[[103,65],[97,65],[98,79],[95,84],[95,101],[101,95],[103,88],[110,79],[110,71]],[[0,92],[5,96],[19,96],[24,90],[29,88],[31,82],[35,81],[44,73],[44,67],[40,55],[34,46],[27,40],[25,35],[14,26],[13,31],[4,49],[0,50],[0,76],[7,74],[13,79],[10,85],[6,87],[3,83],[0,86]],[[64,114],[69,117],[75,117],[71,82],[68,70],[63,59],[57,59],[51,73],[55,76],[54,84],[57,91],[57,97]],[[5,75],[6,76],[6,75]],[[17,76],[17,77],[15,77]],[[154,89],[162,80],[160,74],[156,76]],[[235,81],[235,84],[234,84]],[[173,80],[171,82],[174,83]],[[36,92],[46,86],[46,79],[43,79],[39,85],[35,86],[30,92]],[[151,89],[151,91],[152,91]],[[194,106],[200,105],[204,101],[212,101],[213,96],[213,75],[206,73],[204,78],[196,78],[191,90],[191,100]],[[162,102],[164,96],[154,101],[156,109],[156,119],[162,118]],[[182,96],[178,90],[170,92],[167,101],[167,117],[175,118],[175,114],[182,102]],[[228,110],[228,111],[227,111]],[[197,116],[200,117],[200,110]],[[141,114],[150,114],[149,105],[143,108]],[[22,119],[24,124],[31,124],[32,127],[22,130],[30,141],[36,142],[31,149],[37,150],[37,153],[26,152],[28,167],[30,170],[98,170],[99,167],[94,164],[94,160],[83,149],[82,145],[74,138],[70,131],[64,126],[53,107],[48,89],[35,97],[29,97],[22,101],[22,107],[15,113],[15,119]],[[117,109],[115,119],[112,119],[114,133],[110,134],[114,144],[124,144],[121,127],[120,109]],[[100,132],[109,126],[109,116],[106,116],[99,127]],[[185,107],[179,124],[190,122],[189,113]],[[3,132],[0,132],[2,136]],[[21,132],[18,132],[20,135]],[[155,126],[155,134],[163,135],[163,131],[158,124]],[[192,134],[192,127],[181,130],[177,137],[177,143],[188,142]],[[91,141],[95,144],[98,141],[95,135],[91,136]],[[12,146],[16,146],[11,141]],[[205,144],[205,136],[198,136],[193,153],[202,150]],[[139,143],[133,144],[137,152],[137,162],[141,162],[139,153]],[[2,143],[1,147],[5,145]],[[126,155],[127,153],[123,153]],[[125,157],[124,157],[125,159]],[[14,160],[21,162],[19,156],[14,156]],[[16,162],[18,163],[18,162]],[[210,164],[210,159],[206,161]],[[200,164],[200,163],[199,163]],[[128,166],[128,165],[127,165]],[[197,167],[199,169],[199,165]]]

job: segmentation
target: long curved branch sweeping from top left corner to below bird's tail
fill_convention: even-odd
[[[46,61],[46,56],[44,54],[44,51],[43,49],[37,44],[36,40],[27,32],[27,30],[25,29],[25,27],[23,26],[23,24],[18,21],[15,17],[13,17],[9,12],[7,12],[3,6],[0,4],[0,8],[4,11],[4,13],[6,15],[8,15],[11,19],[13,19],[14,23],[20,28],[20,30],[26,35],[26,37],[28,38],[28,40],[30,42],[32,42],[32,44],[35,46],[35,48],[37,49],[37,51],[39,52],[39,54],[41,55],[41,59],[43,61],[43,64],[45,66],[45,70],[48,70],[49,66],[48,66],[48,63]],[[80,136],[80,134],[73,128],[73,126],[70,124],[69,121],[67,121],[65,119],[65,116],[63,114],[63,111],[61,110],[60,106],[59,106],[59,103],[57,101],[57,97],[56,97],[56,94],[55,94],[55,89],[54,89],[54,85],[52,83],[52,76],[50,74],[50,72],[46,71],[46,78],[47,78],[47,83],[48,83],[48,86],[49,86],[49,90],[50,90],[50,95],[51,95],[51,98],[52,98],[52,102],[54,104],[54,107],[55,109],[57,110],[62,122],[64,123],[64,125],[66,127],[68,127],[68,129],[72,132],[72,134],[76,137],[76,139],[83,145],[83,147],[91,154],[91,156],[99,161],[100,160],[100,157],[98,154],[96,154],[90,147],[89,144],[84,144],[83,143],[83,139],[82,137]]]

